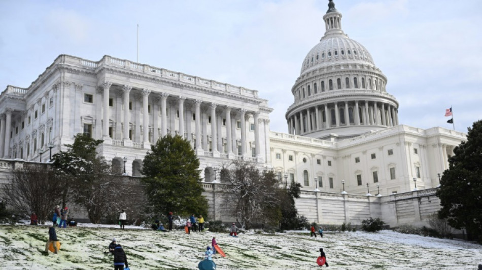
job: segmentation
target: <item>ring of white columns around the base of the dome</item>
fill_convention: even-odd
[[[343,108],[345,124],[340,124],[340,107],[338,103],[325,103],[315,107],[302,109],[288,118],[288,130],[290,134],[301,135],[303,133],[312,132],[316,130],[336,128],[340,126],[360,126],[360,125],[383,125],[392,127],[398,125],[397,109],[395,106],[377,101],[365,100],[364,102],[356,100],[355,106],[349,106],[349,101],[344,101],[340,106]],[[329,104],[333,104],[329,106]],[[350,121],[349,108],[352,108],[353,122]],[[360,114],[361,108],[361,114]],[[381,113],[378,114],[378,108]],[[334,112],[334,122],[332,123],[332,111]],[[323,113],[325,114],[325,121],[323,121]],[[305,121],[306,120],[306,121]],[[325,126],[323,126],[325,123]]]

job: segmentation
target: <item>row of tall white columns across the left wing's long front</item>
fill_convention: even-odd
[[[102,99],[102,107],[104,109],[103,113],[103,127],[102,127],[102,137],[104,140],[110,140],[109,136],[109,91],[112,86],[112,83],[106,82],[102,84],[104,88],[104,98]],[[129,138],[129,122],[130,122],[130,112],[129,112],[129,102],[130,102],[130,91],[132,90],[132,86],[124,85],[124,145],[128,145],[130,143]],[[143,93],[143,126],[145,127],[144,136],[143,136],[143,144],[145,148],[150,146],[149,142],[149,133],[147,132],[149,127],[149,113],[148,113],[148,103],[149,103],[149,95],[151,91],[149,89],[142,89]],[[169,94],[167,93],[160,93],[160,104],[161,104],[161,136],[165,136],[167,134],[167,97]],[[184,136],[184,107],[185,107],[185,100],[186,98],[183,96],[178,96],[178,111],[179,111],[179,127],[178,132],[182,136]],[[195,134],[196,134],[196,149],[201,149],[201,104],[203,103],[202,100],[196,99],[193,100],[195,105]],[[211,136],[212,136],[212,151],[216,152],[219,151],[218,147],[222,147],[221,140],[218,140],[218,133],[221,134],[220,129],[218,130],[218,125],[221,123],[217,123],[217,112],[216,109],[219,107],[217,103],[211,102],[210,104],[210,116],[211,116]],[[228,152],[237,152],[237,147],[233,145],[232,141],[232,130],[231,130],[231,106],[225,106],[225,117],[226,117],[226,144]],[[247,143],[246,143],[246,109],[239,109],[239,118],[241,124],[241,147],[242,147],[242,155],[246,155],[247,153]],[[157,113],[155,113],[157,117]],[[259,112],[253,112],[254,122],[255,122],[255,151],[256,156],[260,156],[260,145],[259,145]],[[222,119],[221,119],[222,121]],[[156,122],[156,121],[155,121]],[[221,126],[219,126],[220,128]],[[206,137],[206,136],[205,136]],[[157,136],[154,137],[154,140],[157,140]]]

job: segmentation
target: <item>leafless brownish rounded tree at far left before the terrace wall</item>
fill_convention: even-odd
[[[57,178],[47,165],[27,165],[13,172],[5,185],[8,204],[16,214],[29,216],[36,212],[40,223],[45,223],[62,194]]]

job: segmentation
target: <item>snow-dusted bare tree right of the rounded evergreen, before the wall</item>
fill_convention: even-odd
[[[280,182],[273,171],[260,171],[251,163],[236,161],[222,169],[221,181],[224,208],[242,227],[250,228],[255,223],[278,224]]]

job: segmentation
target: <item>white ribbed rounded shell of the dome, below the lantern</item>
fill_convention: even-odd
[[[308,52],[301,65],[300,75],[336,62],[374,65],[370,53],[359,42],[345,34],[331,34],[325,35],[320,43]]]

